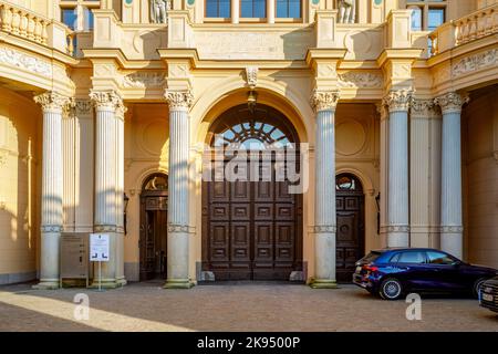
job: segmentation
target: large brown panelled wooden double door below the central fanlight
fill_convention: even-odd
[[[274,179],[205,181],[203,270],[216,280],[289,280],[301,271],[301,196],[288,187]]]

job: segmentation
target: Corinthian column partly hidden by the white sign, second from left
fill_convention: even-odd
[[[102,279],[94,278],[94,287],[124,285],[123,260],[123,100],[114,91],[93,91],[95,105],[95,212],[94,232],[110,236],[110,260],[102,263]],[[95,272],[98,274],[98,272]]]

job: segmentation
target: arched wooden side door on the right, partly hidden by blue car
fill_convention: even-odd
[[[351,282],[355,262],[364,256],[365,198],[355,176],[341,174],[335,178],[336,279]]]

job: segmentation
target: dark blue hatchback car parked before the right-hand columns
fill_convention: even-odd
[[[386,300],[409,292],[469,293],[478,296],[497,270],[471,266],[435,249],[398,248],[370,252],[356,262],[353,282]]]

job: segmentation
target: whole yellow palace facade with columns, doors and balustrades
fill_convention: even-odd
[[[497,39],[495,0],[0,0],[0,284],[58,288],[93,232],[108,288],[498,268]],[[208,178],[248,143],[304,187]]]

